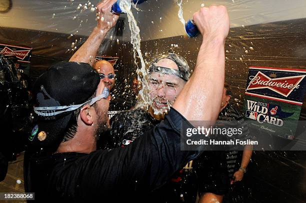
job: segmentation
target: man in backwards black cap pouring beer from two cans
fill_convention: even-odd
[[[100,19],[112,15],[113,2],[98,5]],[[89,64],[63,62],[39,76],[34,84],[38,121],[29,136],[35,153],[25,163],[26,191],[52,202],[137,199],[199,154],[180,150],[180,128],[187,119],[217,117],[229,20],[224,6],[201,8],[193,20],[203,35],[194,74],[165,119],[128,147],[95,150],[96,135],[108,126],[109,103],[108,89]],[[211,86],[213,92],[203,91]]]

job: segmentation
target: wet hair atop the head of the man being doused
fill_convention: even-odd
[[[155,64],[163,58],[168,58],[170,60],[173,60],[178,67],[178,70],[179,70],[180,75],[181,75],[180,77],[185,81],[187,81],[189,79],[190,68],[189,68],[189,65],[188,65],[187,61],[185,60],[185,58],[183,58],[182,56],[180,56],[178,54],[170,52],[170,51],[167,54],[158,56],[157,58],[155,58],[151,62],[151,66],[149,67],[149,73],[151,73],[153,71],[153,68],[154,68]]]

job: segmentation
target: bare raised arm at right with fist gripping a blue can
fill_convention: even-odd
[[[215,120],[220,110],[224,85],[224,42],[229,19],[224,6],[202,7],[193,21],[203,41],[192,76],[173,107],[187,120]]]

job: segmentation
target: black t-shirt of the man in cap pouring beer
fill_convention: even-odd
[[[26,154],[26,192],[35,192],[40,201],[140,200],[199,155],[180,150],[182,121],[184,117],[171,109],[157,126],[123,148],[44,157]]]

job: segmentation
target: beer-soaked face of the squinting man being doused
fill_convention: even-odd
[[[168,58],[160,59],[155,65],[178,69],[176,63]],[[164,113],[173,104],[185,81],[174,74],[151,72],[148,84],[153,110]]]

